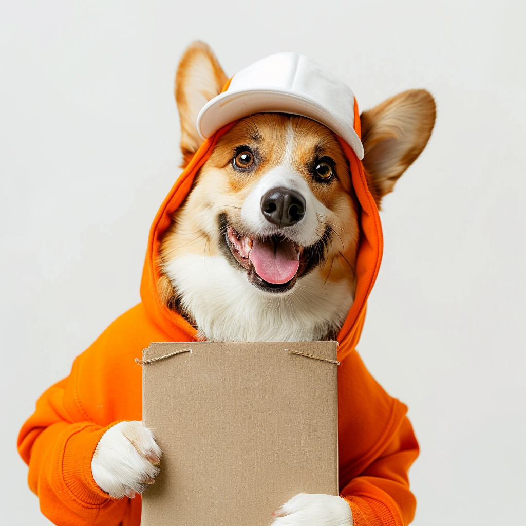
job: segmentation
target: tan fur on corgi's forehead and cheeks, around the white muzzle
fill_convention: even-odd
[[[294,133],[294,169],[310,185],[313,194],[332,213],[332,218],[319,218],[320,235],[327,224],[333,231],[326,265],[318,269],[323,279],[355,279],[358,242],[357,201],[353,193],[349,167],[336,137],[325,126],[304,117],[281,114],[256,114],[241,119],[222,136],[197,177],[194,189],[174,215],[174,223],[161,244],[161,261],[175,255],[218,255],[224,242],[218,232],[217,217],[227,214],[229,222],[241,234],[239,220],[242,203],[268,170],[279,166],[285,155],[287,129]],[[254,140],[255,138],[260,140]],[[236,147],[247,145],[259,152],[260,166],[250,175],[239,173],[231,166]],[[317,149],[318,148],[318,149]],[[333,184],[313,180],[311,165],[316,155],[336,161],[338,177]],[[163,297],[171,298],[163,283]]]

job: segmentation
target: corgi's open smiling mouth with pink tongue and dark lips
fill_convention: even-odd
[[[248,281],[264,290],[290,290],[307,268],[307,251],[284,236],[243,237],[227,224],[225,240],[236,261],[247,270]]]

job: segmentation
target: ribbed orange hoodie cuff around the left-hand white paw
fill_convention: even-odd
[[[99,440],[115,423],[105,428],[92,423],[78,424],[66,439],[62,479],[66,488],[84,504],[97,506],[110,498],[93,478],[92,459]]]

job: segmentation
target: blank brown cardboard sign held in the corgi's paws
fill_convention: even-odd
[[[333,341],[151,343],[143,421],[163,458],[141,524],[265,526],[297,493],[337,495],[336,351]]]

